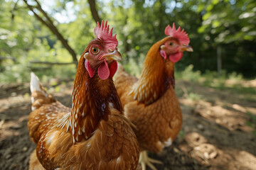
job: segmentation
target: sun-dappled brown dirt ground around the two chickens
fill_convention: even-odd
[[[71,106],[71,81],[46,87]],[[256,169],[255,100],[188,81],[177,81],[176,91],[183,128],[171,147],[161,154],[149,153],[163,162],[156,164],[157,169]],[[29,155],[36,147],[26,127],[31,112],[29,93],[29,84],[0,87],[0,169],[28,169]]]

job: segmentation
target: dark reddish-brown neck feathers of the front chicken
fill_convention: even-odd
[[[97,130],[100,120],[107,120],[111,108],[122,111],[112,79],[102,80],[97,74],[90,78],[84,63],[85,59],[81,57],[75,75],[72,111],[68,125],[74,143],[91,137]]]

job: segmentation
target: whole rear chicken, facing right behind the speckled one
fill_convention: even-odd
[[[171,145],[182,126],[181,108],[174,90],[174,64],[181,60],[183,51],[192,48],[187,34],[180,28],[168,26],[166,35],[150,48],[139,79],[127,74],[120,64],[114,76],[124,115],[136,126],[134,132],[141,152],[161,152]],[[140,157],[145,154],[141,153]],[[158,161],[143,159],[142,162],[155,169],[150,162]],[[146,169],[144,163],[142,169]]]

